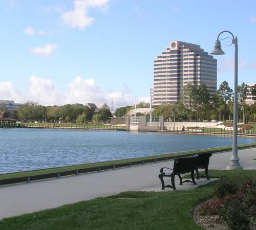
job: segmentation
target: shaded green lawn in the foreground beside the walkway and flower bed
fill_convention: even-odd
[[[256,178],[256,170],[209,170],[211,178]],[[160,182],[160,181],[159,181]],[[193,211],[219,181],[190,191],[124,192],[0,221],[0,229],[203,229]],[[160,183],[159,183],[160,186]],[[103,188],[102,188],[103,189]]]

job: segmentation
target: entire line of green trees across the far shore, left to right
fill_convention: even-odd
[[[243,82],[238,86],[238,116],[240,122],[256,121],[256,104],[247,105],[247,85]],[[252,87],[253,100],[256,100],[256,84]],[[141,102],[137,108],[150,107],[149,103]],[[214,97],[210,97],[205,84],[188,84],[183,88],[183,94],[177,104],[162,104],[154,106],[154,117],[163,116],[165,121],[226,121],[233,119],[233,90],[227,81],[223,81]],[[115,117],[124,117],[127,112],[134,109],[134,105],[117,108]],[[7,109],[0,105],[1,111]],[[17,110],[10,111],[12,116],[22,121],[48,121],[48,122],[75,122],[98,123],[107,122],[112,114],[109,109],[95,112],[88,106],[67,104],[62,106],[42,106],[36,102],[28,101]]]

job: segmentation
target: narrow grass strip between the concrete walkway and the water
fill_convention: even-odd
[[[64,172],[64,171],[69,171],[69,170],[87,169],[87,168],[93,168],[93,167],[103,167],[103,166],[116,165],[116,164],[122,164],[122,163],[132,163],[132,162],[136,162],[139,160],[155,159],[155,158],[159,158],[159,157],[182,156],[182,155],[186,155],[186,154],[196,154],[196,153],[200,153],[200,152],[218,152],[218,151],[230,150],[231,147],[232,146],[224,146],[224,147],[218,147],[218,148],[166,153],[166,154],[136,157],[136,158],[129,158],[129,159],[109,160],[106,162],[97,162],[97,163],[71,165],[71,166],[55,167],[55,168],[48,168],[48,169],[13,172],[13,173],[0,174],[0,180],[1,179],[17,178],[17,177],[25,177],[25,176],[42,175],[42,174],[47,174],[47,173],[58,173],[58,172]],[[239,148],[256,147],[256,143],[242,144],[242,145],[239,145],[238,147]]]

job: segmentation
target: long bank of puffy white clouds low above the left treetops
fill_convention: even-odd
[[[66,93],[60,93],[51,79],[31,76],[28,84],[28,91],[21,94],[13,87],[11,82],[0,82],[0,98],[2,100],[14,100],[15,102],[24,103],[26,101],[38,102],[41,105],[63,105],[74,103],[99,103],[104,102],[118,108],[125,105],[133,105],[134,98],[122,91],[110,91],[106,93],[95,82],[93,78],[82,79],[76,77],[68,84]],[[149,98],[137,98],[137,103],[148,102]]]

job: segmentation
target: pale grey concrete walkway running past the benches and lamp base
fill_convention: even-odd
[[[230,156],[231,152],[214,154],[209,169],[225,169]],[[244,169],[256,169],[256,148],[239,150],[239,157]],[[160,192],[161,167],[172,168],[173,161],[0,187],[0,219],[124,191]],[[176,188],[194,189],[210,181],[201,179],[196,180],[198,185],[179,186],[177,177]]]

